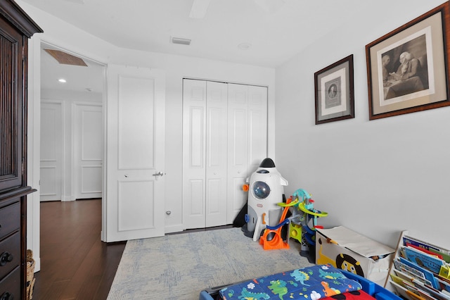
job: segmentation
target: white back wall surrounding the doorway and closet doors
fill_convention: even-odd
[[[43,34],[36,34],[32,37],[30,44],[33,48],[39,47],[40,41],[59,46],[62,49],[68,49],[75,54],[79,54],[91,60],[107,65],[116,63],[123,65],[137,65],[141,67],[157,68],[166,72],[166,157],[165,157],[165,210],[172,211],[172,215],[166,219],[166,232],[174,232],[183,229],[182,226],[182,83],[184,77],[199,78],[205,80],[219,80],[224,82],[236,82],[252,85],[263,85],[269,87],[269,156],[274,154],[274,82],[275,70],[272,68],[260,68],[251,65],[242,65],[236,63],[225,63],[221,61],[210,61],[200,58],[189,58],[187,56],[173,56],[167,54],[155,54],[143,51],[133,51],[130,49],[121,49],[98,39],[87,32],[65,23],[63,20],[54,18],[30,4],[18,0],[18,4],[30,17],[44,30]],[[30,107],[34,114],[40,110],[37,101],[40,101],[39,91],[39,57],[37,50],[34,50],[34,57],[30,56],[30,86],[33,87],[29,94]],[[31,114],[33,114],[30,111]],[[31,151],[39,151],[39,130],[36,126],[39,124],[39,115],[33,115],[34,130],[32,133],[33,145]],[[39,157],[39,156],[37,156]],[[35,156],[30,157],[30,165],[35,165]],[[34,178],[30,179],[30,185],[38,182],[39,174],[34,172]],[[34,197],[36,198],[36,197]],[[39,197],[38,197],[39,198]],[[34,202],[33,215],[37,215],[36,199],[30,198]],[[30,205],[29,205],[30,207]],[[33,215],[29,215],[29,219]],[[34,222],[28,223],[29,232],[38,235],[39,220],[34,218]],[[30,233],[31,235],[31,233]],[[30,237],[29,235],[29,237]],[[32,237],[30,237],[32,239]],[[29,239],[29,240],[30,240]],[[36,239],[36,238],[35,238]],[[34,240],[35,240],[34,239]],[[30,248],[36,248],[34,242]]]

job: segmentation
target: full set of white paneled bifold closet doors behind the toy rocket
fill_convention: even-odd
[[[266,158],[267,89],[184,80],[183,101],[183,225],[231,224]]]

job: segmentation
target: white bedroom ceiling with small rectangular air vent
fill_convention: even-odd
[[[380,5],[380,0],[23,1],[122,48],[269,68],[288,61],[352,15]],[[206,4],[203,18],[191,18],[191,8],[201,4]],[[172,44],[171,37],[192,42],[190,46]],[[243,43],[248,49],[239,48]],[[53,76],[58,73],[44,70]],[[42,73],[42,85],[52,85],[46,73]],[[87,81],[88,76],[84,78]]]

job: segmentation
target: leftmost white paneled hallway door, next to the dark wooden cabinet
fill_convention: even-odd
[[[41,103],[40,200],[60,201],[63,186],[63,109]]]

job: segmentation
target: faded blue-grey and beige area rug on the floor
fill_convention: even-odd
[[[240,228],[127,242],[108,299],[194,300],[207,287],[304,268],[300,244],[264,251]]]

